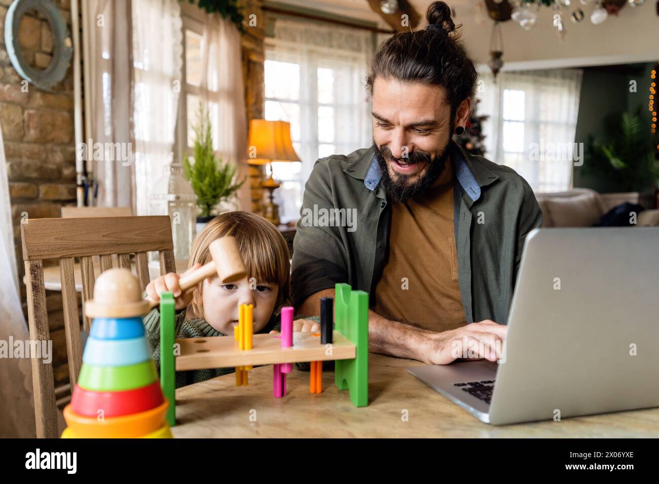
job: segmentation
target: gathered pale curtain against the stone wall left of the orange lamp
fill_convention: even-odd
[[[248,175],[241,35],[219,14],[206,14],[205,18],[199,95],[210,113],[214,148],[223,161],[237,165],[236,179],[241,180]],[[251,211],[248,181],[239,190],[237,205],[231,208]]]

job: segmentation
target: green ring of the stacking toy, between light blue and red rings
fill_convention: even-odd
[[[82,365],[78,385],[96,392],[132,390],[158,381],[158,371],[153,360],[125,366]]]

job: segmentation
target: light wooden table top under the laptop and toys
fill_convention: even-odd
[[[407,372],[422,363],[369,354],[369,404],[355,408],[326,371],[322,394],[293,369],[288,394],[272,396],[272,366],[236,387],[225,375],[176,391],[174,437],[658,437],[659,408],[494,427],[478,421]],[[403,411],[409,421],[403,421]],[[250,421],[256,417],[256,421]]]

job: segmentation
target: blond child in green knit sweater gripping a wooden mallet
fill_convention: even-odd
[[[194,292],[181,294],[181,275],[169,273],[150,282],[146,292],[159,300],[163,291],[175,297],[177,338],[233,336],[241,304],[254,305],[254,334],[279,331],[279,311],[289,303],[291,264],[286,242],[279,230],[260,215],[235,211],[218,215],[210,221],[192,244],[188,272],[212,261],[208,246],[217,238],[235,237],[243,256],[247,275],[241,281],[221,284],[219,278],[200,282]],[[156,365],[160,362],[160,315],[154,309],[144,317]],[[296,321],[296,331],[318,331],[310,321]],[[177,371],[176,386],[204,381],[233,368]]]

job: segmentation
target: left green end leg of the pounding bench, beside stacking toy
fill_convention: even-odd
[[[176,425],[176,362],[174,358],[174,296],[171,292],[160,294],[160,387],[169,401],[167,422]]]

